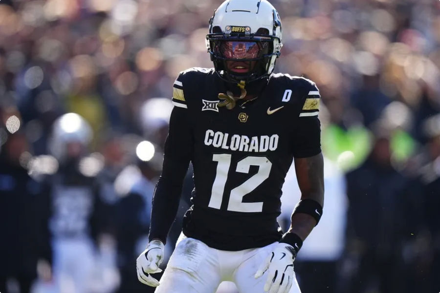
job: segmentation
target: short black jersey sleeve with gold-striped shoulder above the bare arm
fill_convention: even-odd
[[[320,94],[316,85],[308,81],[304,102],[297,118],[293,156],[306,158],[321,152],[321,123],[318,119]]]

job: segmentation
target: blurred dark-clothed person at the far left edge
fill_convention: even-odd
[[[19,130],[2,139],[6,142],[0,152],[0,292],[29,293],[37,278],[37,262],[52,260],[45,225],[48,210],[42,185],[27,173],[31,155],[25,135]]]

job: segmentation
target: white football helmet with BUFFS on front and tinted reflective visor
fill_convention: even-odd
[[[280,16],[267,0],[226,0],[209,20],[206,45],[220,78],[252,82],[273,72],[281,33]],[[227,61],[248,63],[248,70],[231,71]]]

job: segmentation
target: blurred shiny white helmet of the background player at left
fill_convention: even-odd
[[[64,114],[53,123],[49,151],[55,158],[63,159],[66,156],[68,144],[78,143],[87,147],[92,135],[90,125],[83,117],[76,113]]]

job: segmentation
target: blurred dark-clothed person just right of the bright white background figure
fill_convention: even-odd
[[[408,180],[391,160],[390,132],[376,125],[371,154],[347,173],[347,244],[343,289],[347,293],[404,292],[404,239]]]

